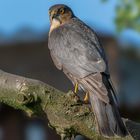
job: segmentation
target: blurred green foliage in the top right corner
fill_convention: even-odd
[[[129,28],[140,32],[140,0],[117,0],[115,23],[118,31]]]

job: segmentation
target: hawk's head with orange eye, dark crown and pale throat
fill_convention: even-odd
[[[50,7],[49,17],[52,30],[68,22],[71,18],[74,17],[74,14],[68,6],[63,4],[57,4]]]

